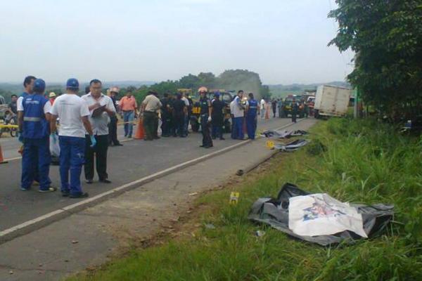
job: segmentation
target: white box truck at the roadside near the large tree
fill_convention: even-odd
[[[321,85],[316,89],[315,118],[319,116],[341,117],[347,113],[352,89]]]

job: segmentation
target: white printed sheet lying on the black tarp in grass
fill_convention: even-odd
[[[333,235],[350,230],[367,238],[362,214],[326,193],[290,197],[288,228],[297,235]]]

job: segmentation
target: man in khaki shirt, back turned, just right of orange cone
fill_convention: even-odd
[[[148,96],[141,103],[141,112],[143,113],[143,126],[145,127],[145,141],[157,140],[158,130],[158,110],[162,104],[157,98],[156,91],[148,91]]]

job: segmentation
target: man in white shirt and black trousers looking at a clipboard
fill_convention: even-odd
[[[88,105],[89,122],[92,132],[96,139],[95,147],[91,147],[91,137],[85,135],[85,179],[91,184],[94,178],[94,154],[96,162],[96,171],[101,183],[111,183],[107,174],[107,151],[108,151],[108,122],[110,118],[115,117],[116,110],[113,100],[101,93],[102,84],[98,79],[89,82],[90,92],[82,96],[82,99]]]

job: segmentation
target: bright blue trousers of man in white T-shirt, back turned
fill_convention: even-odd
[[[59,136],[61,191],[81,195],[81,172],[85,162],[85,138]],[[70,184],[69,184],[70,171]]]

